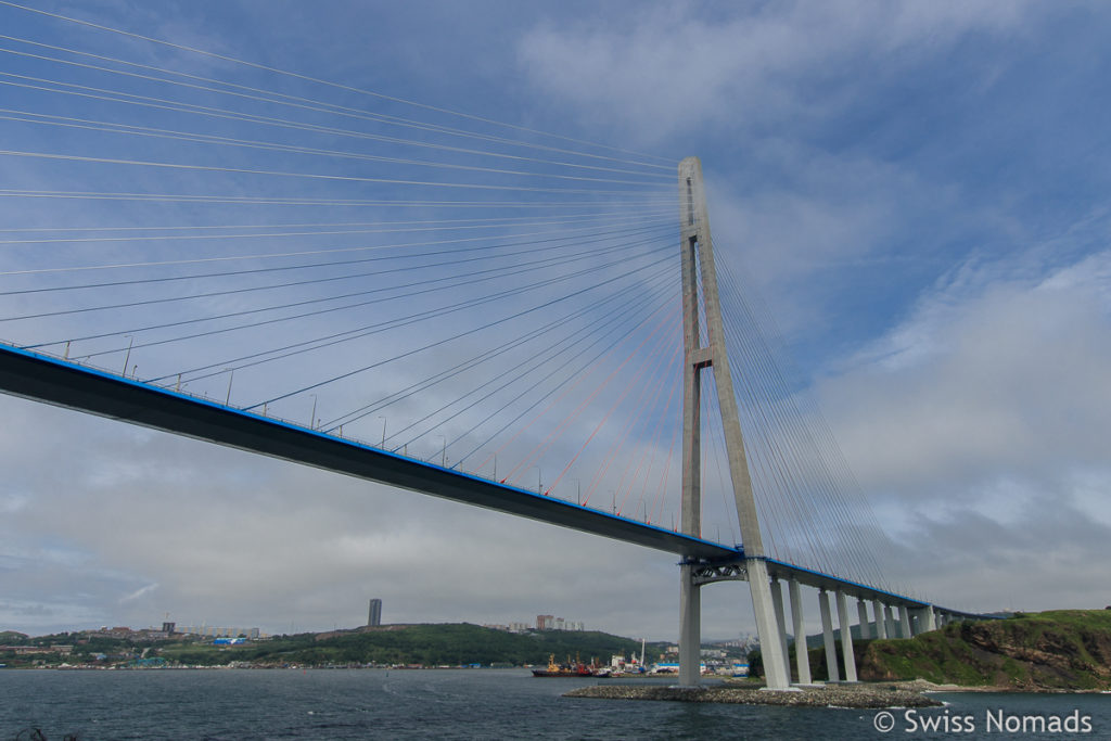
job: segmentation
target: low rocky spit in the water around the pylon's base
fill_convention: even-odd
[[[770,692],[750,682],[722,683],[700,689],[678,687],[597,684],[567,692],[565,698],[601,700],[662,700],[671,702],[724,702],[748,705],[811,708],[935,708],[943,703],[923,694],[912,683],[815,684],[797,691]]]

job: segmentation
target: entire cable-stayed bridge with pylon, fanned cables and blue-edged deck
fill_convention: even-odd
[[[832,679],[972,617],[887,584],[697,159],[0,8],[2,390],[674,553],[682,684],[714,581],[772,688],[801,587]]]

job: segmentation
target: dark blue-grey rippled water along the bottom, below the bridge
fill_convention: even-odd
[[[893,711],[573,700],[598,680],[533,679],[527,671],[3,671],[0,741],[29,728],[49,741],[100,739],[1007,739],[1111,738],[1111,695],[948,694],[914,728]],[[1031,734],[984,728],[1007,718],[1090,718],[1091,732]],[[975,731],[953,728],[971,717]],[[997,715],[998,717],[998,715]],[[939,731],[922,721],[945,722]],[[1013,721],[1012,721],[1013,724]],[[959,732],[960,731],[960,732]],[[24,733],[21,738],[27,738]]]

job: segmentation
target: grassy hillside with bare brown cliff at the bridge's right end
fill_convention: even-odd
[[[925,679],[1015,690],[1111,689],[1111,610],[1018,613],[861,647],[864,681]]]

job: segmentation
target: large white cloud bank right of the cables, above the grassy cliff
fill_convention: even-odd
[[[1039,254],[953,271],[819,387],[901,570],[947,603],[1085,607],[1102,573],[1111,252]]]

